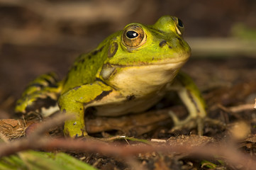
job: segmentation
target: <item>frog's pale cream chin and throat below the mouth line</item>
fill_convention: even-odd
[[[143,96],[172,82],[185,62],[116,67],[108,82],[122,89],[124,95]]]

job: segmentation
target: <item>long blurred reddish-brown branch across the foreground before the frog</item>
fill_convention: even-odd
[[[79,152],[99,152],[104,155],[113,157],[131,157],[133,155],[147,153],[147,152],[162,152],[162,153],[176,153],[186,155],[198,155],[200,157],[222,157],[228,164],[233,166],[242,165],[245,169],[254,169],[256,166],[255,160],[251,157],[238,152],[234,147],[228,147],[226,144],[202,143],[194,147],[189,143],[181,143],[179,140],[172,140],[167,144],[152,144],[152,145],[116,145],[106,142],[99,142],[98,140],[70,140],[70,139],[39,139],[30,142],[28,139],[3,144],[0,146],[0,156],[6,156],[20,152],[26,149],[47,149],[56,150],[62,149],[65,151],[79,151]]]

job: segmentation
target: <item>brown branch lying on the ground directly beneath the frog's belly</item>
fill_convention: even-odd
[[[166,125],[172,123],[169,116],[169,111],[179,113],[179,115],[186,115],[187,111],[182,106],[172,106],[169,108],[160,109],[157,111],[147,111],[140,114],[123,115],[117,118],[99,117],[96,119],[86,120],[86,130],[89,133],[103,132],[107,130],[121,130],[129,134],[129,132],[136,132],[136,135],[142,135],[150,132],[159,124]]]

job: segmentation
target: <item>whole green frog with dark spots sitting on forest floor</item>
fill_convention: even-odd
[[[191,56],[183,33],[184,24],[175,16],[162,16],[148,26],[130,23],[79,55],[62,81],[53,73],[32,81],[15,111],[72,115],[64,134],[86,137],[87,108],[106,117],[142,113],[174,91],[189,112],[184,120],[170,113],[174,128],[201,120],[206,117],[204,99],[194,81],[179,72]]]

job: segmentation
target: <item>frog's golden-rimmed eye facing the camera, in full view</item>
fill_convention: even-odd
[[[123,30],[122,42],[123,45],[130,48],[140,47],[145,43],[146,37],[143,28],[138,25],[130,25]]]

